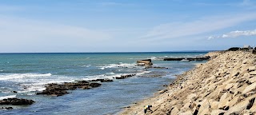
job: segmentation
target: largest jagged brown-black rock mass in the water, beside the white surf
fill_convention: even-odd
[[[94,87],[98,87],[102,84],[97,82],[88,82],[88,81],[78,81],[78,82],[65,82],[64,84],[56,84],[51,83],[46,85],[46,89],[42,91],[42,93],[36,93],[37,95],[45,94],[45,95],[52,95],[52,96],[62,96],[67,94],[66,90],[69,89],[91,89]]]

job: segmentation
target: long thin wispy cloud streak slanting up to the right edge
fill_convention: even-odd
[[[173,22],[155,26],[141,38],[143,40],[156,41],[205,34],[255,19],[256,14],[248,13],[199,18],[193,22]]]

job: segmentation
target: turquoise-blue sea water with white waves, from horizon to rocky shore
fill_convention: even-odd
[[[14,106],[1,114],[114,114],[163,89],[174,74],[194,67],[195,61],[162,61],[162,57],[194,57],[197,53],[81,53],[81,54],[0,54],[0,98],[18,97],[36,101],[33,105]],[[155,66],[145,69],[136,61],[151,58]],[[71,90],[62,97],[35,95],[47,83],[113,78],[122,74],[137,76],[102,83],[94,89]],[[150,77],[162,74],[162,77]],[[13,93],[17,91],[18,93]]]

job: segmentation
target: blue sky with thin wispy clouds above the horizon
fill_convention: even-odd
[[[256,0],[0,0],[0,53],[256,46]]]

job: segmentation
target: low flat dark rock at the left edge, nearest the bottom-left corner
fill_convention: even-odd
[[[33,100],[18,99],[18,98],[8,98],[0,101],[0,105],[31,105],[33,103],[34,103]]]

